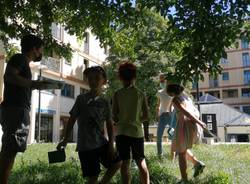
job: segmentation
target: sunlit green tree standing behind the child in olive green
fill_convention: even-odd
[[[105,65],[109,79],[107,95],[111,97],[121,87],[117,69],[122,60],[128,59],[137,66],[136,85],[147,96],[153,119],[157,102],[155,95],[159,90],[158,75],[160,72],[173,71],[182,44],[171,43],[164,47],[166,40],[173,36],[168,30],[169,21],[154,10],[144,9],[141,13],[144,16],[140,25],[120,28],[119,32],[113,34],[114,44],[110,45],[110,56]]]

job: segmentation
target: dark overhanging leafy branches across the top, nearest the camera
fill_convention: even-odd
[[[181,43],[175,73],[191,80],[202,78],[202,72],[218,72],[225,48],[242,35],[249,38],[249,4],[250,0],[2,0],[0,38],[7,43],[27,32],[38,34],[46,41],[47,51],[69,58],[70,46],[51,35],[52,22],[79,38],[90,28],[102,44],[112,45],[114,33],[140,26],[143,11],[153,8],[169,21],[165,33],[172,35],[160,49],[166,52],[170,43]]]

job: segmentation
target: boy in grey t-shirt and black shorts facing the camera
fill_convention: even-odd
[[[77,97],[70,111],[70,118],[63,140],[57,149],[66,147],[68,137],[75,121],[78,122],[77,151],[82,173],[89,184],[96,184],[100,173],[100,163],[107,168],[100,183],[108,183],[120,168],[120,160],[115,155],[113,121],[109,102],[101,96],[102,86],[106,84],[106,73],[100,66],[84,71],[90,91]],[[106,121],[108,140],[104,136]]]

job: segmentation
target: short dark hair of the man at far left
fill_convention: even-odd
[[[43,46],[43,41],[38,36],[28,34],[21,39],[22,53],[27,53],[35,48],[41,48]]]

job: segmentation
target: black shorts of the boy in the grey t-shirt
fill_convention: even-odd
[[[114,160],[108,159],[108,144],[89,151],[79,151],[78,155],[84,177],[99,175],[101,172],[100,164],[102,164],[105,168],[109,168],[112,164],[121,161],[118,155]]]

